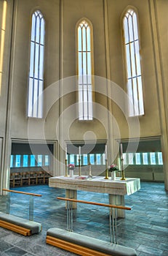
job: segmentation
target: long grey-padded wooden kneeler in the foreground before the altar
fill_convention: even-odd
[[[82,256],[136,256],[135,249],[111,244],[110,242],[101,241],[97,238],[83,236],[79,233],[73,233],[52,227],[47,230],[47,244],[57,246],[69,252]]]

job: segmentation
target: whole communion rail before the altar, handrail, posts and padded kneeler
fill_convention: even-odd
[[[81,256],[136,256],[135,249],[121,246],[116,241],[116,209],[131,210],[125,206],[114,206],[106,203],[88,202],[65,197],[57,197],[58,200],[67,201],[67,229],[52,227],[47,230],[46,242],[52,246],[60,247],[69,252]],[[110,209],[111,242],[81,235],[73,231],[73,203],[86,203],[93,206],[104,206]]]

